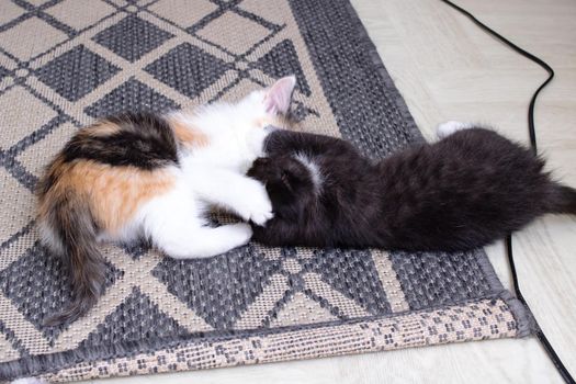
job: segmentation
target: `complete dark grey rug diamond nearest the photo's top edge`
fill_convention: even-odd
[[[171,37],[173,37],[171,33],[129,14],[92,39],[126,60],[135,61]]]

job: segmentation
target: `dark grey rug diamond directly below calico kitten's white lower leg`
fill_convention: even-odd
[[[279,269],[278,261],[266,260],[248,246],[206,260],[166,258],[153,274],[211,326],[226,329]]]

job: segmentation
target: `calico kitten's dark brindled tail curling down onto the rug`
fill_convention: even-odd
[[[61,313],[44,320],[44,325],[55,326],[78,319],[97,303],[104,291],[106,264],[97,248],[97,226],[88,204],[64,196],[49,205],[43,219],[69,263],[74,297]]]

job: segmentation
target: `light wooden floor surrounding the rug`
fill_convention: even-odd
[[[576,1],[454,0],[556,70],[537,109],[540,150],[576,187]],[[484,122],[527,139],[527,105],[545,72],[438,0],[352,0],[418,125],[433,138],[447,120]],[[545,217],[515,236],[527,300],[576,375],[576,219]],[[488,248],[509,281],[501,244]],[[535,339],[468,342],[395,352],[161,376],[135,383],[560,383]]]

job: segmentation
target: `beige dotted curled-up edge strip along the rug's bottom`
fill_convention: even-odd
[[[464,321],[471,318],[473,326],[465,328]],[[447,329],[439,332],[436,328],[437,321]],[[289,332],[274,332],[268,336],[196,340],[181,347],[121,359],[82,362],[41,377],[50,383],[60,383],[95,377],[316,359],[509,337],[519,337],[516,318],[510,307],[501,298],[482,300],[442,309],[337,326],[325,325]]]

